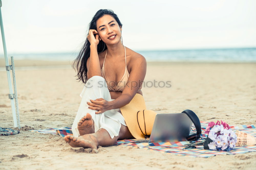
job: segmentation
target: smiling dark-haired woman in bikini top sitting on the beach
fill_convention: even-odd
[[[129,120],[124,120],[120,108],[138,98],[144,103],[141,85],[146,60],[123,45],[122,23],[112,10],[101,9],[94,15],[73,68],[85,86],[72,125],[73,136],[66,136],[66,142],[72,147],[97,148],[132,138],[126,125]]]

